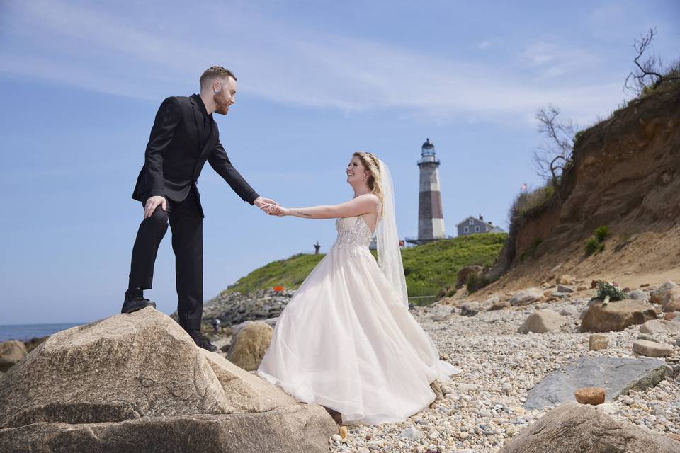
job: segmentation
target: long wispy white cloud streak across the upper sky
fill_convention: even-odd
[[[574,117],[594,117],[608,112],[622,96],[620,84],[528,83],[525,73],[500,64],[446,60],[370,40],[300,30],[247,11],[232,12],[227,28],[222,18],[210,19],[210,11],[192,8],[186,16],[178,11],[181,23],[171,18],[163,23],[139,13],[128,16],[148,20],[130,23],[91,6],[16,2],[8,8],[11,25],[3,33],[39,38],[41,44],[28,53],[2,47],[0,70],[157,99],[195,86],[203,67],[228,62],[239,76],[239,91],[278,103],[348,112],[400,109],[404,115],[438,121],[528,120],[548,102]],[[207,22],[198,22],[205,17]],[[490,46],[491,40],[478,45]],[[533,70],[534,82],[566,76],[583,58],[594,57],[545,42],[528,45],[521,55]]]

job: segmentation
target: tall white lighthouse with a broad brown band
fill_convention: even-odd
[[[445,238],[444,216],[441,212],[441,192],[439,190],[439,160],[434,144],[428,138],[423,144],[420,168],[420,196],[418,202],[418,242]]]

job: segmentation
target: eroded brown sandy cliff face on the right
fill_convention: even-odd
[[[584,131],[568,180],[563,202],[523,222],[510,270],[494,287],[560,273],[680,279],[679,87],[633,101]],[[599,226],[608,226],[611,236],[604,251],[586,257],[584,242]],[[537,239],[531,258],[521,260]]]

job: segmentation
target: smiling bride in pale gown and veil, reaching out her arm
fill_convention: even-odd
[[[339,423],[396,423],[435,399],[430,383],[460,372],[409,312],[392,178],[374,154],[347,167],[348,202],[268,214],[337,218],[329,253],[297,289],[274,327],[256,374]],[[368,250],[377,234],[378,263]],[[340,420],[338,420],[340,418]]]

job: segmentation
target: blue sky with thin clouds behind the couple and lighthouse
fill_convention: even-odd
[[[0,4],[0,324],[92,321],[120,311],[142,207],[130,198],[154,114],[198,91],[212,64],[239,79],[215,115],[234,166],[283,205],[333,204],[344,169],[373,151],[395,178],[402,236],[417,231],[420,146],[441,159],[448,234],[467,215],[507,227],[522,183],[540,183],[534,116],[581,127],[630,95],[633,39],[680,50],[675,1],[4,1]],[[327,251],[334,222],[266,217],[210,166],[205,299],[271,260]],[[170,232],[158,309],[176,309]]]

